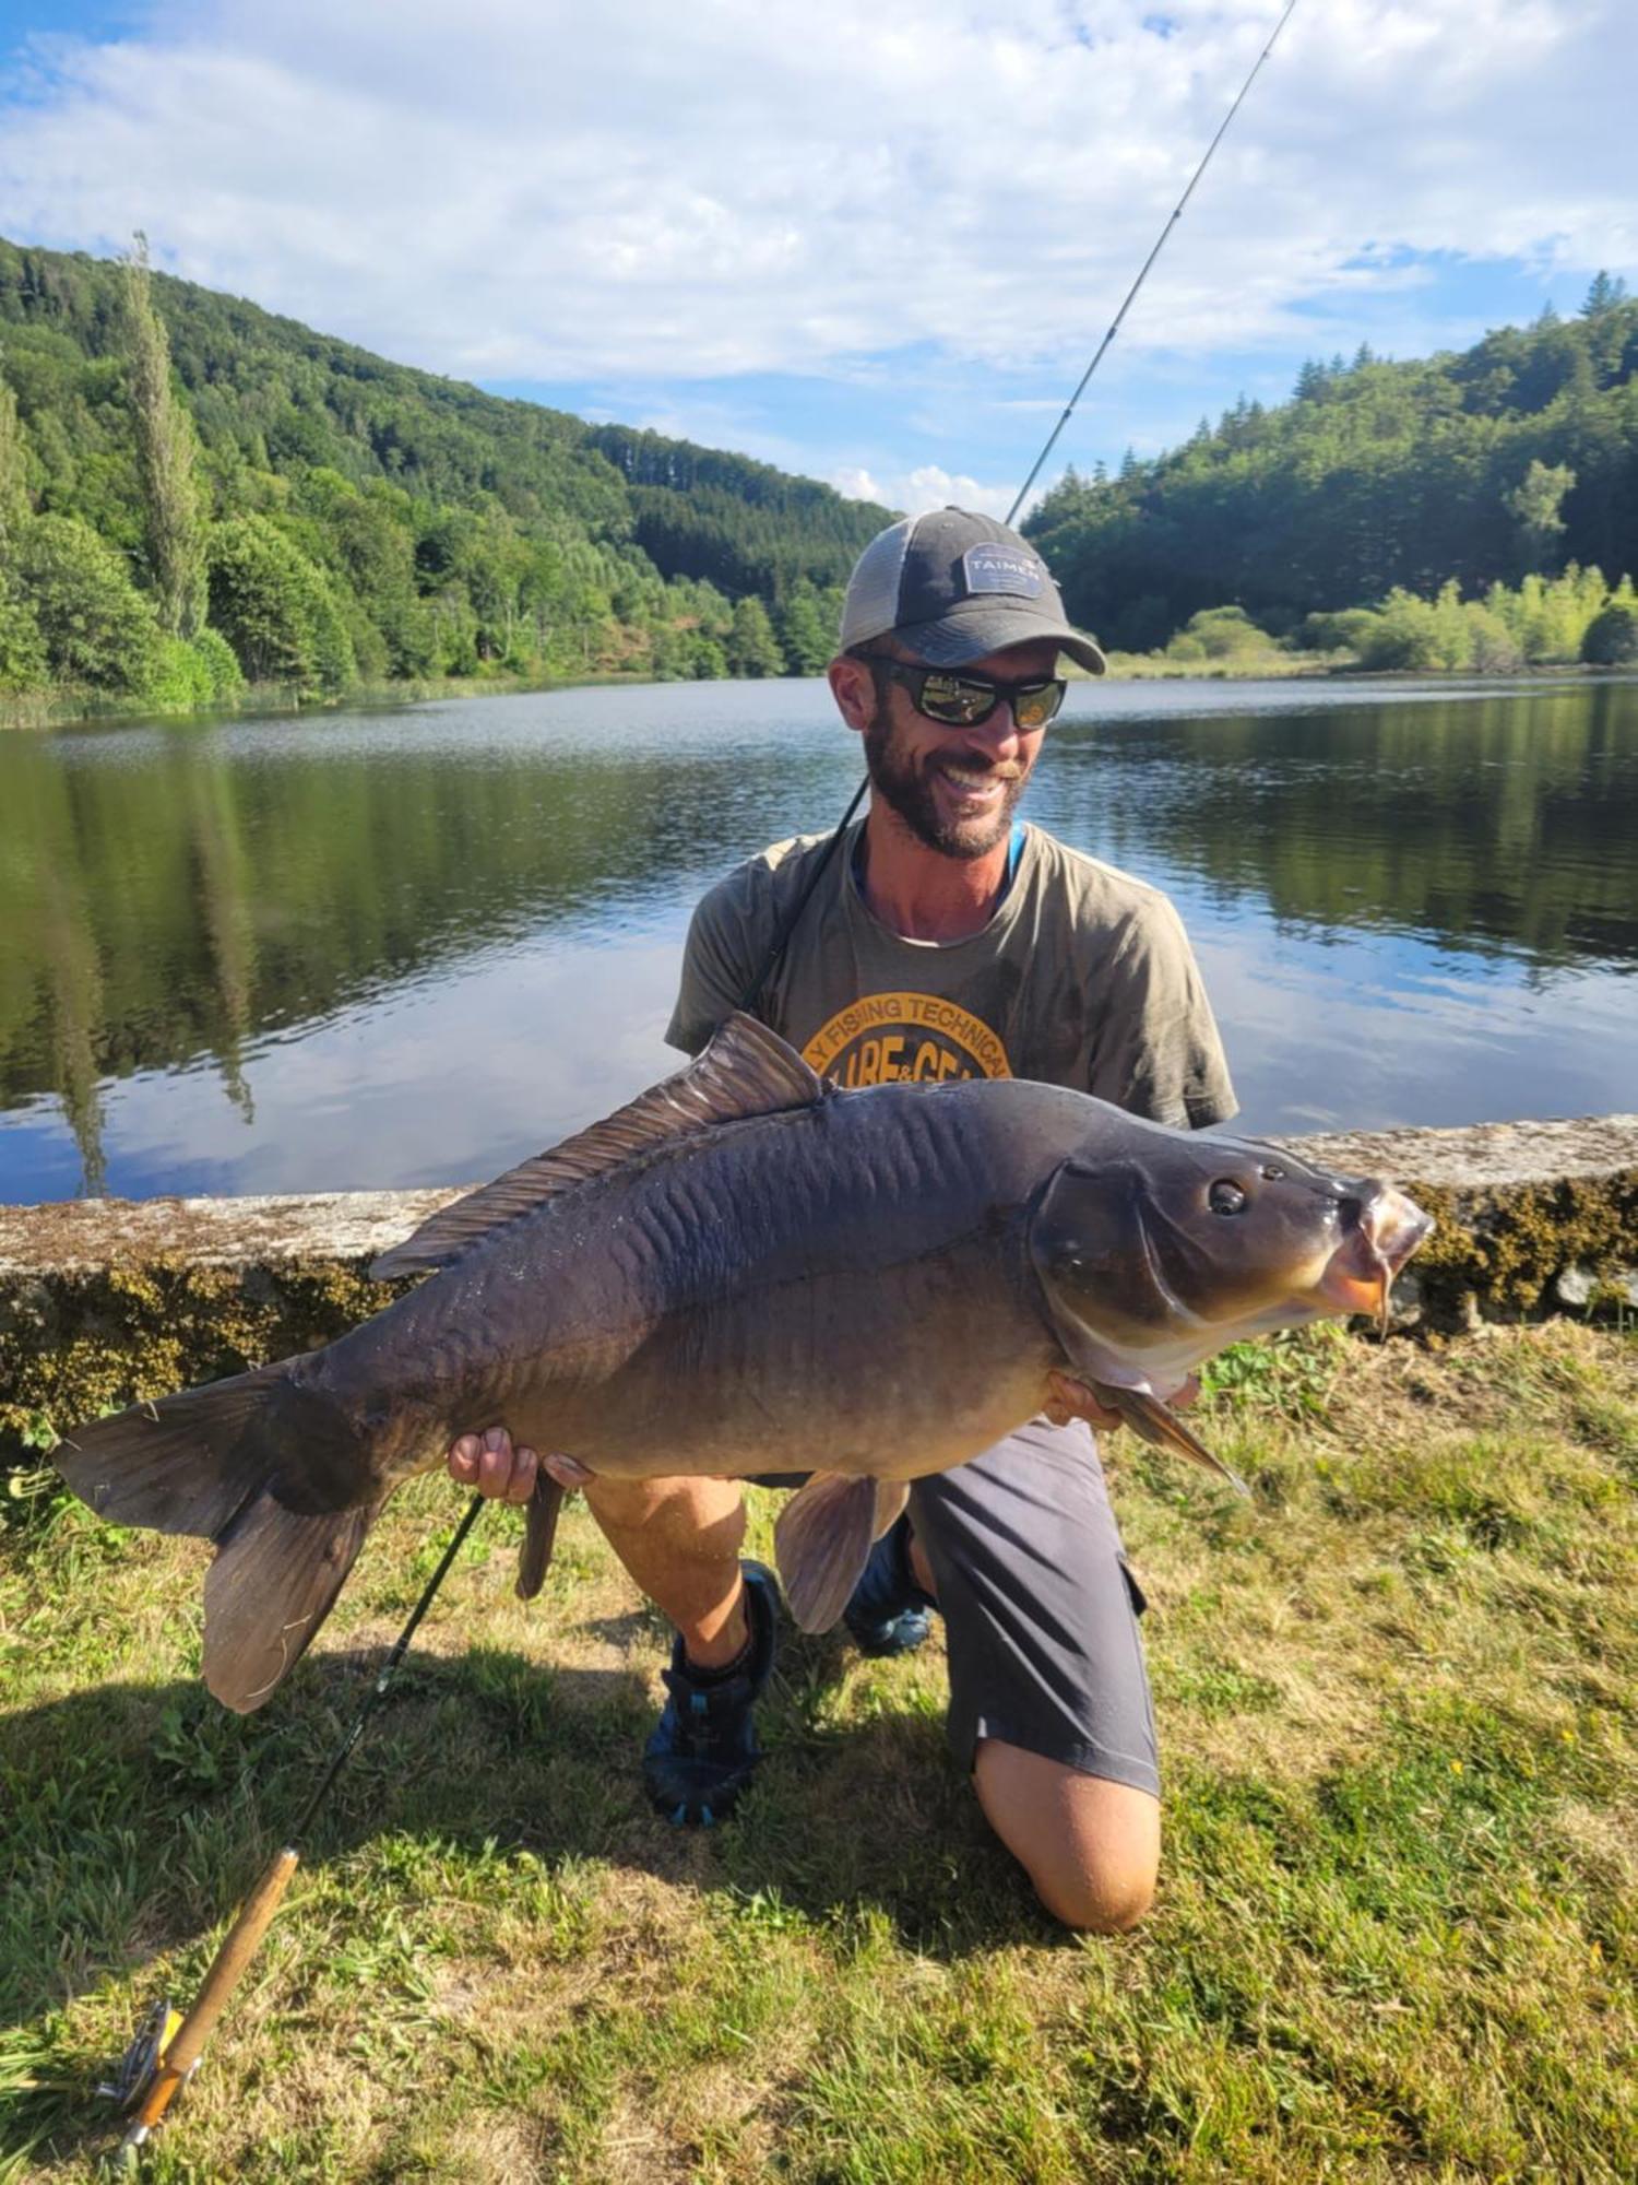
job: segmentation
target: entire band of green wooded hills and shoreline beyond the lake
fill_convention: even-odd
[[[1638,304],[1367,350],[1026,531],[1131,675],[1638,666]],[[815,675],[889,509],[0,240],[0,725]],[[1356,601],[1361,605],[1332,605]],[[269,693],[277,693],[271,697]]]

